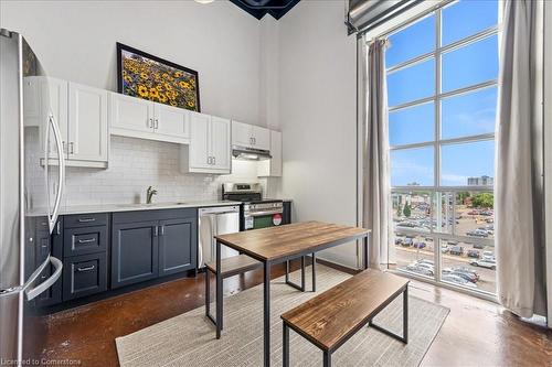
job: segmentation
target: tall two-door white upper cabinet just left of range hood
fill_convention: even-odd
[[[181,147],[182,171],[230,173],[230,120],[198,112],[191,112],[190,120],[190,145]]]

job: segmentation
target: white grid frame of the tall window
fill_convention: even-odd
[[[426,17],[434,15],[435,17],[435,50],[432,52],[418,55],[416,57],[413,57],[411,60],[404,61],[402,63],[399,63],[396,65],[393,65],[389,68],[385,69],[385,76],[400,72],[406,67],[416,65],[418,63],[426,62],[428,60],[434,58],[435,62],[435,86],[434,86],[434,94],[433,96],[426,97],[426,98],[421,98],[416,100],[412,100],[408,102],[400,104],[396,106],[389,107],[388,112],[391,114],[393,111],[399,111],[405,108],[411,108],[411,107],[416,107],[421,106],[423,104],[427,102],[433,102],[434,105],[434,140],[432,141],[424,141],[424,142],[416,142],[416,143],[408,143],[408,144],[397,144],[397,145],[391,145],[390,142],[390,153],[393,151],[400,151],[400,150],[407,150],[407,149],[415,149],[415,148],[427,148],[427,147],[433,147],[434,150],[434,185],[432,186],[404,186],[404,185],[399,185],[399,186],[391,186],[391,195],[394,193],[412,193],[412,192],[427,192],[429,193],[429,205],[432,211],[432,218],[436,220],[437,228],[440,228],[443,217],[440,215],[442,213],[442,203],[443,203],[443,195],[452,194],[453,198],[455,201],[455,204],[453,205],[453,223],[452,223],[452,228],[449,233],[444,233],[444,231],[437,231],[434,230],[433,227],[427,230],[423,231],[420,229],[413,229],[413,228],[397,228],[394,227],[394,224],[392,224],[392,227],[390,228],[390,233],[393,235],[391,236],[390,244],[389,246],[395,246],[393,244],[393,238],[395,233],[401,233],[403,235],[412,235],[412,236],[425,236],[428,238],[432,238],[433,244],[434,244],[434,276],[433,277],[423,277],[417,273],[413,273],[410,271],[402,271],[402,270],[392,270],[392,271],[397,271],[401,273],[407,273],[408,276],[412,276],[414,278],[423,279],[424,281],[429,281],[439,285],[445,285],[447,288],[452,288],[455,290],[460,290],[463,292],[467,292],[470,294],[478,294],[479,296],[482,296],[485,299],[496,301],[496,293],[491,293],[485,290],[471,290],[471,289],[466,289],[460,285],[454,285],[450,283],[443,282],[442,280],[442,268],[443,268],[443,257],[440,253],[440,244],[442,241],[447,241],[447,240],[456,240],[456,241],[461,241],[461,242],[469,242],[469,244],[478,244],[478,245],[484,245],[484,246],[493,246],[496,244],[495,238],[488,239],[488,238],[479,238],[479,237],[470,237],[470,236],[463,236],[463,235],[457,235],[456,234],[456,197],[459,192],[471,192],[471,193],[485,193],[485,192],[491,192],[493,191],[493,185],[481,185],[481,186],[468,186],[467,183],[466,185],[463,186],[443,186],[442,185],[442,148],[446,145],[452,145],[452,144],[459,144],[459,143],[470,143],[470,142],[478,142],[478,141],[495,141],[495,132],[491,133],[480,133],[480,134],[471,134],[471,136],[466,136],[466,137],[457,137],[457,138],[448,138],[448,139],[443,139],[442,138],[442,100],[445,98],[450,98],[450,97],[458,97],[461,95],[466,95],[468,93],[475,93],[475,91],[481,91],[486,88],[492,88],[497,87],[498,88],[498,79],[491,79],[491,80],[486,80],[476,85],[470,85],[467,87],[449,90],[449,91],[442,91],[442,63],[443,63],[443,55],[449,52],[453,52],[455,50],[468,46],[470,44],[474,44],[478,41],[489,39],[492,36],[498,37],[498,43],[500,45],[500,31],[501,31],[501,4],[500,1],[497,0],[498,2],[498,23],[493,26],[487,28],[485,30],[481,30],[473,35],[463,37],[460,40],[457,40],[450,44],[447,45],[442,45],[442,26],[443,26],[443,17],[442,12],[443,9],[445,9],[448,6],[454,6],[457,1],[456,0],[445,0],[443,3],[431,8],[420,14],[417,14],[414,18],[410,18],[406,21],[402,22],[400,25],[389,30],[385,33],[380,34],[379,36],[391,36],[394,33],[401,32],[403,29],[412,25],[413,23],[423,20]],[[390,175],[391,180],[391,175]],[[392,202],[392,198],[390,197],[390,203]],[[392,206],[390,206],[392,209]],[[448,220],[445,218],[445,220]]]

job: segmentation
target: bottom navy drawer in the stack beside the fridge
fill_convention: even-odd
[[[106,265],[106,253],[65,258],[63,261],[63,301],[105,291]]]

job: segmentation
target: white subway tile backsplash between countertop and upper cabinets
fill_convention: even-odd
[[[109,168],[67,168],[65,205],[127,204],[146,199],[155,186],[157,202],[217,199],[223,182],[258,182],[254,162],[234,162],[231,175],[180,173],[180,145],[112,137]]]

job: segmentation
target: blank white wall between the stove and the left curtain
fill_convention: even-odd
[[[295,220],[357,224],[357,48],[343,1],[301,1],[279,21],[283,195]],[[322,257],[357,266],[353,244]]]

